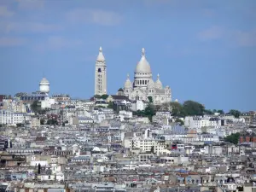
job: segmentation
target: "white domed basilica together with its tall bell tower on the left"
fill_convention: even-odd
[[[107,65],[102,54],[102,47],[96,58],[95,71],[95,95],[107,94]],[[125,81],[124,89],[119,89],[119,96],[127,96],[131,101],[148,101],[148,96],[152,96],[156,105],[164,102],[172,102],[172,91],[169,86],[163,87],[160,75],[154,82],[151,67],[145,56],[145,49],[142,50],[142,58],[137,63],[134,72],[134,80],[131,82],[129,75]]]

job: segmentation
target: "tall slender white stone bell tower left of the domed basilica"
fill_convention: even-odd
[[[104,94],[107,94],[107,65],[102,54],[102,47],[100,47],[99,55],[96,59],[95,95],[102,96]]]

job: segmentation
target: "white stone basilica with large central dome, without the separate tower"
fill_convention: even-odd
[[[154,82],[151,67],[145,56],[145,49],[142,51],[141,60],[137,63],[133,82],[129,75],[125,81],[124,95],[133,101],[148,101],[148,96],[152,96],[154,104],[172,102],[171,88],[163,87],[159,74]]]

